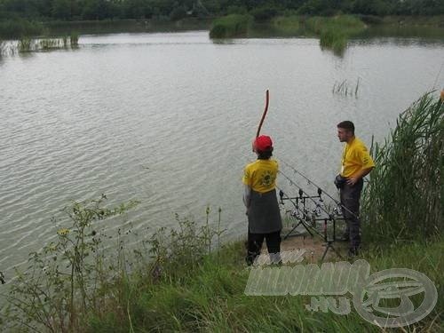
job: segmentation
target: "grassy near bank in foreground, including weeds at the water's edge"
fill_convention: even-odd
[[[24,321],[28,316],[34,316],[34,322],[26,324],[36,328],[36,321],[42,318],[47,324],[43,331],[53,332],[381,332],[376,325],[364,321],[353,307],[347,315],[310,312],[305,309],[305,305],[310,304],[309,296],[245,295],[250,271],[243,262],[243,242],[225,244],[220,252],[208,254],[202,249],[203,243],[201,247],[191,246],[197,243],[188,237],[197,234],[189,234],[186,228],[181,230],[180,236],[162,238],[163,242],[173,243],[168,249],[156,248],[152,252],[152,261],[142,262],[140,258],[135,261],[131,273],[124,268],[121,260],[120,266],[113,268],[114,277],[94,290],[84,308],[82,303],[73,305],[76,310],[72,323],[68,311],[71,305],[48,308],[44,313],[41,306],[49,306],[49,298],[45,299],[48,303],[42,301],[42,305],[29,309],[29,313],[20,313],[17,318]],[[408,246],[365,250],[361,257],[369,262],[370,274],[393,267],[417,270],[427,275],[435,283],[438,294],[442,295],[443,250],[444,240],[437,238]],[[168,261],[162,260],[166,253],[161,254],[163,251],[169,251]],[[189,257],[190,254],[193,257]],[[301,264],[307,263],[305,259]],[[27,291],[33,295],[31,297],[40,293],[31,288]],[[346,297],[353,298],[351,294]],[[62,298],[59,302],[63,305]],[[415,305],[419,304],[415,302]],[[439,332],[439,318],[443,310],[444,299],[440,297],[432,313],[424,320],[400,331]],[[7,325],[12,323],[9,318],[5,318],[4,322]],[[27,327],[19,323],[17,331],[27,331]]]

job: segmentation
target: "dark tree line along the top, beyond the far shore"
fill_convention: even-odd
[[[0,0],[0,20],[180,20],[246,12],[256,20],[285,13],[438,15],[444,0]]]

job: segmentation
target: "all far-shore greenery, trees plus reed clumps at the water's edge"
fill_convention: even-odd
[[[378,27],[381,34],[396,29],[408,34],[416,33],[418,26],[438,29],[433,36],[441,36],[444,4],[424,4],[424,0],[0,0],[0,56],[66,47],[63,41],[73,34],[190,29],[210,30],[213,40],[313,36],[320,39],[321,48],[342,55],[349,39],[365,35],[369,27],[372,31]],[[424,33],[432,35],[430,31],[420,35]],[[61,43],[55,41],[60,38]],[[11,40],[18,40],[18,47]]]

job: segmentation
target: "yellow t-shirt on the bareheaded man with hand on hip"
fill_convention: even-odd
[[[362,169],[375,166],[369,155],[369,150],[358,138],[354,138],[352,142],[345,144],[341,164],[341,176],[345,178],[353,177]]]

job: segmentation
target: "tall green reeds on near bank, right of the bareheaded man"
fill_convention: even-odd
[[[444,227],[444,105],[426,93],[400,114],[363,192],[362,217],[371,238],[422,239]]]

